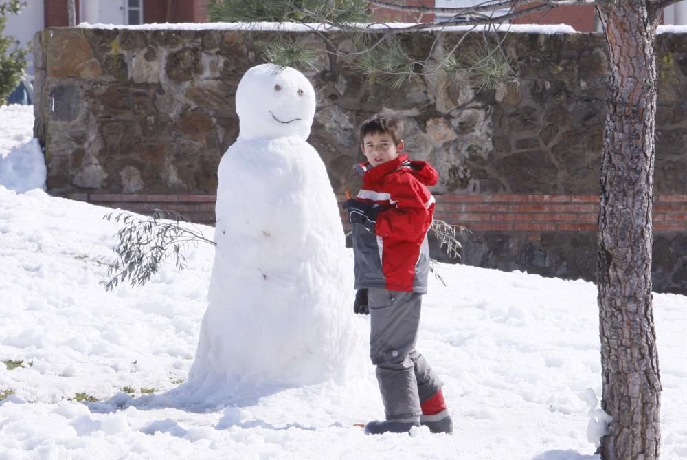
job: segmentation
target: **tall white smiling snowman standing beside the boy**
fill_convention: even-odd
[[[236,113],[188,384],[234,392],[361,375],[352,259],[324,163],[306,142],[315,90],[291,67],[258,65],[240,80]]]

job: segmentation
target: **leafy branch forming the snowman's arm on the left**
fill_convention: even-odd
[[[182,226],[181,222],[190,222],[171,210],[156,209],[148,219],[115,211],[103,219],[124,224],[115,234],[117,243],[112,250],[117,259],[107,267],[107,274],[113,275],[105,285],[107,291],[127,280],[131,286],[148,283],[170,256],[174,257],[174,265],[182,270],[185,267],[183,250],[190,244],[203,242],[215,245],[214,241],[203,236],[203,231],[197,226]]]

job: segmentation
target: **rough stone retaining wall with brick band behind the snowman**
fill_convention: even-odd
[[[324,50],[315,34],[291,33]],[[218,162],[238,135],[234,93],[245,70],[262,62],[263,34],[252,32],[250,41],[234,30],[38,34],[35,130],[51,193],[139,212],[190,206],[179,209],[211,220],[200,203],[212,204]],[[460,36],[446,34],[435,57]],[[472,230],[464,263],[593,280],[608,65],[602,36],[502,38],[519,81],[491,91],[442,71],[396,89],[346,60],[333,65],[323,52],[317,69],[305,72],[318,97],[309,142],[335,191],[357,190],[357,127],[394,109],[405,116],[407,151],[440,172],[436,217]],[[433,35],[404,40],[418,52],[430,49]],[[463,49],[475,40],[481,36]],[[687,293],[687,41],[662,34],[657,51],[655,287]]]

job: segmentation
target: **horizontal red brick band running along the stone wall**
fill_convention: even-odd
[[[150,214],[175,210],[190,221],[214,224],[214,194],[71,193],[69,199]],[[340,203],[345,195],[337,195]],[[596,232],[598,195],[436,195],[435,219],[473,232]],[[350,224],[341,212],[346,230]],[[654,232],[687,228],[687,195],[660,195],[653,205]]]

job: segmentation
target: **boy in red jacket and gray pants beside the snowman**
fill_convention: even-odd
[[[392,114],[363,122],[361,149],[368,161],[355,166],[363,187],[343,205],[352,223],[358,289],[353,309],[370,314],[370,358],[386,415],[385,421],[370,421],[365,432],[408,432],[423,424],[431,432],[451,433],[442,382],[415,349],[434,212],[427,186],[436,184],[438,174],[425,162],[407,159],[401,130]]]

